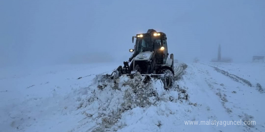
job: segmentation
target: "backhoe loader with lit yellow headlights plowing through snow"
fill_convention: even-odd
[[[129,61],[124,61],[124,66],[119,66],[110,75],[96,75],[98,82],[115,82],[122,75],[130,78],[146,76],[160,78],[164,88],[170,88],[174,81],[174,58],[168,53],[166,34],[148,29],[147,33],[133,36],[133,42],[134,38],[136,42],[134,49],[129,49],[133,52]]]

